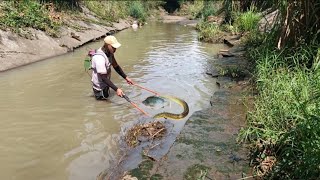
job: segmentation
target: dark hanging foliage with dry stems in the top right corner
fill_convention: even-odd
[[[319,1],[273,0],[273,3],[280,12],[274,29],[278,49],[320,42]]]

